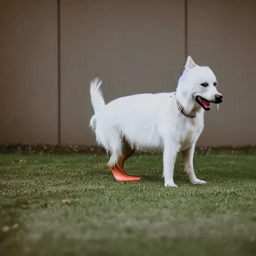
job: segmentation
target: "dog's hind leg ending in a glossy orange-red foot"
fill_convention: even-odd
[[[109,159],[110,162],[110,168],[113,173],[114,178],[117,181],[136,181],[139,180],[141,177],[139,176],[129,176],[124,172],[123,165],[124,161],[128,159],[133,153],[134,149],[130,147],[130,145],[123,139],[121,141],[121,144],[119,145],[119,148],[114,154],[111,155],[113,159]],[[121,153],[120,153],[121,152]]]

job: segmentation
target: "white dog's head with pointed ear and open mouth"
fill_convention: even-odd
[[[190,56],[179,77],[178,86],[184,96],[192,97],[204,110],[210,109],[210,102],[222,102],[223,96],[216,89],[217,80],[212,70],[208,66],[195,64]]]

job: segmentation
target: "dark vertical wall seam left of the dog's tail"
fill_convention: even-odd
[[[61,143],[60,123],[60,0],[57,0],[57,83],[58,83],[58,144]]]

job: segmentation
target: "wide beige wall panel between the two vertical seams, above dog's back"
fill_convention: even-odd
[[[106,101],[175,88],[184,61],[180,0],[61,1],[61,141],[95,143],[89,81]]]

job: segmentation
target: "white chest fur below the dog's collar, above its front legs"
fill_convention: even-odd
[[[203,113],[198,113],[195,118],[184,117],[179,121],[179,128],[176,130],[180,138],[180,151],[195,143],[203,130]]]

